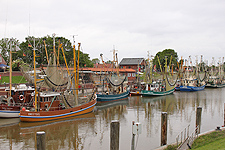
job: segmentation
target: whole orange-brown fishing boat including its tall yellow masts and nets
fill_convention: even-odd
[[[54,36],[53,36],[53,41],[54,41]],[[55,42],[54,42],[55,43]],[[34,50],[34,81],[36,81],[36,63],[35,63],[35,40],[34,40],[34,46],[33,46]],[[55,46],[54,46],[55,47]],[[53,47],[53,50],[54,50]],[[73,47],[74,52],[75,52],[75,46]],[[62,49],[63,51],[63,49]],[[80,51],[80,43],[78,43],[78,58],[79,58],[79,51]],[[53,59],[53,65],[51,64],[52,69],[55,69],[55,71],[53,71],[54,73],[59,73],[59,67],[56,65],[56,59],[55,59],[55,50],[54,50],[54,59]],[[74,54],[75,55],[75,54]],[[74,57],[75,59],[75,57]],[[66,62],[66,60],[65,60]],[[79,60],[78,60],[79,62]],[[49,64],[51,62],[49,61]],[[79,66],[79,64],[74,63],[74,65]],[[66,64],[67,66],[67,64]],[[67,69],[68,70],[68,69]],[[48,73],[52,73],[52,71],[46,71],[45,77],[44,77],[44,82],[45,84],[49,85],[51,88],[53,88],[53,91],[38,91],[37,89],[42,89],[42,87],[37,87],[36,82],[35,82],[35,92],[33,94],[34,96],[34,105],[35,105],[35,109],[30,109],[27,110],[25,108],[23,108],[20,111],[20,120],[23,122],[41,122],[41,121],[51,121],[51,120],[58,120],[58,119],[64,119],[64,118],[69,118],[69,117],[74,117],[74,116],[80,116],[80,115],[84,115],[84,114],[88,114],[90,112],[93,111],[95,104],[96,104],[96,95],[93,92],[92,95],[90,97],[86,97],[86,100],[82,103],[78,103],[78,88],[74,89],[73,93],[73,97],[75,97],[76,99],[76,105],[72,106],[70,105],[70,103],[68,102],[67,98],[66,98],[66,93],[68,94],[68,92],[66,90],[62,90],[62,89],[58,89],[56,87],[59,87],[61,85],[65,85],[66,84],[70,84],[73,83],[72,81],[64,81],[64,83],[58,85],[55,82],[53,82],[52,78],[50,78],[50,76],[48,76]],[[76,75],[76,77],[74,77],[74,79],[76,79],[74,82],[76,85],[78,85],[78,77],[79,77],[79,71],[74,71],[74,74]],[[68,76],[70,76],[69,72],[68,72]],[[59,75],[55,75],[55,77],[59,77]],[[61,78],[57,78],[58,80],[62,79],[63,77],[61,76]],[[57,80],[56,79],[56,80]],[[40,86],[40,85],[39,85]],[[78,87],[78,86],[76,86]]]

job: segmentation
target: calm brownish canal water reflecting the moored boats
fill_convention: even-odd
[[[136,150],[149,150],[161,144],[161,113],[168,113],[167,143],[190,124],[194,130],[196,109],[202,107],[201,133],[224,124],[225,88],[199,92],[175,92],[162,97],[129,97],[128,100],[97,106],[81,118],[58,122],[22,123],[19,119],[0,119],[0,149],[35,149],[35,134],[45,131],[48,150],[110,149],[110,123],[120,122],[120,150],[131,149],[132,121],[142,124],[135,137]]]

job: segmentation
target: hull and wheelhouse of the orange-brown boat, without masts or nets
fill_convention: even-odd
[[[20,120],[24,122],[40,122],[81,116],[92,112],[96,104],[96,98],[93,95],[91,100],[85,104],[72,108],[64,108],[61,107],[59,99],[54,99],[54,97],[59,95],[60,93],[48,93],[46,95],[42,95],[41,93],[40,98],[44,98],[45,101],[40,102],[40,109],[38,111],[21,110]]]

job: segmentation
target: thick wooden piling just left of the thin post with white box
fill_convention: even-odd
[[[110,150],[119,150],[119,130],[119,121],[113,120],[110,124]]]

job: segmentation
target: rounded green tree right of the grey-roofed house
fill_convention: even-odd
[[[162,67],[162,70],[164,71],[165,60],[166,60],[165,58],[167,57],[167,65],[169,66],[171,56],[172,56],[171,65],[174,65],[173,68],[176,68],[177,67],[177,60],[178,60],[177,53],[173,49],[165,49],[162,52],[158,52],[153,59],[153,64],[156,65],[157,70],[160,70],[158,59],[160,61],[160,65]],[[170,68],[171,68],[171,66],[170,66]]]

